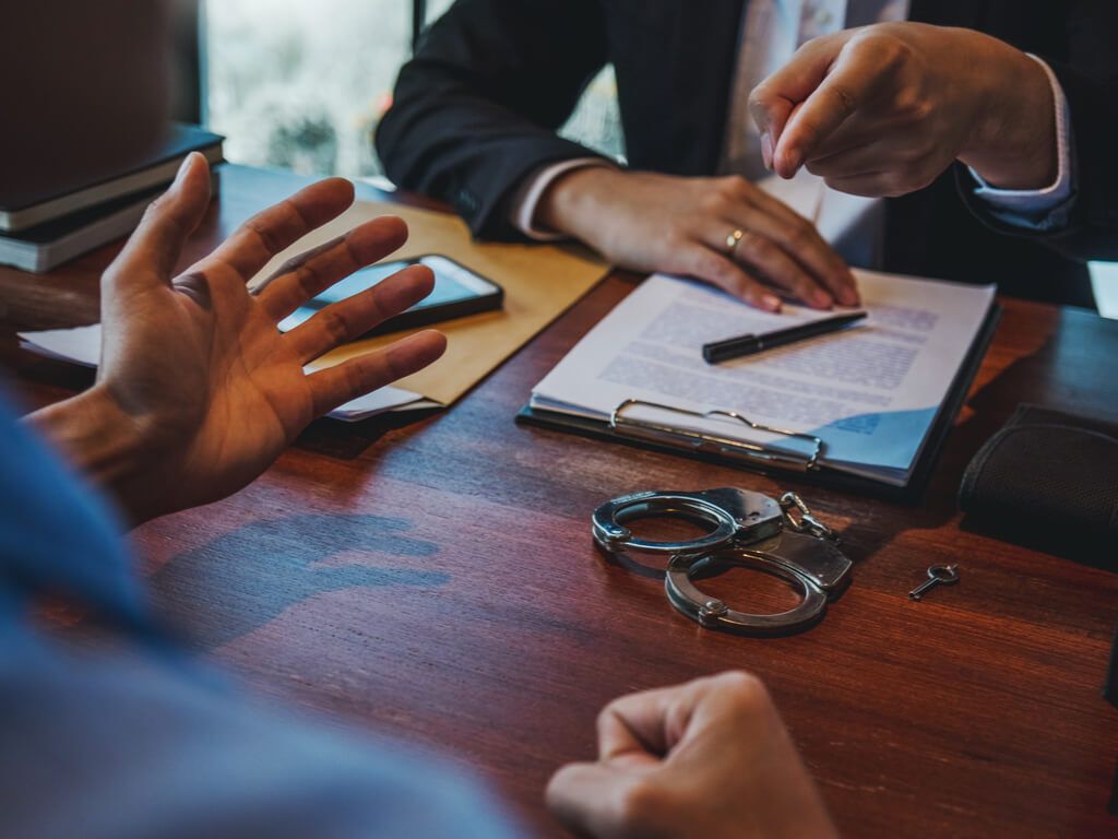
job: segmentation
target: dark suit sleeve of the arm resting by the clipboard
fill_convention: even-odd
[[[458,0],[400,70],[377,130],[389,178],[520,239],[508,200],[542,166],[596,152],[559,138],[607,60],[596,0]]]

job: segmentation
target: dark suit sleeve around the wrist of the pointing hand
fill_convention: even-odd
[[[988,226],[1012,236],[1038,238],[1077,260],[1118,260],[1118,3],[1069,2],[1065,53],[1039,51],[1060,79],[1072,134],[1073,198],[1057,211],[1045,232],[998,221],[974,194],[974,180],[959,169],[964,200]]]

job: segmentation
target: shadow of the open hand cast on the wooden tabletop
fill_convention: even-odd
[[[315,594],[446,585],[451,575],[415,567],[439,547],[408,536],[410,528],[368,515],[254,521],[159,568],[150,579],[154,605],[191,647],[212,650]]]

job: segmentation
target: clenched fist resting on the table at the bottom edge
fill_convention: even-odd
[[[768,691],[742,672],[609,704],[597,761],[559,770],[548,804],[596,839],[837,836]]]

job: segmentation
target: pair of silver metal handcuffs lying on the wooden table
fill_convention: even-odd
[[[626,524],[637,519],[682,518],[710,526],[690,541],[651,541]],[[708,629],[743,635],[778,635],[807,629],[823,619],[828,601],[850,583],[853,563],[837,536],[794,492],[780,500],[733,488],[702,492],[635,492],[601,505],[591,517],[594,541],[610,559],[629,552],[670,555],[664,587],[680,612]],[[697,579],[732,567],[760,571],[798,588],[799,605],[777,614],[748,614],[703,594]]]

